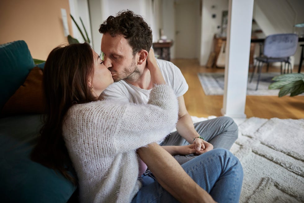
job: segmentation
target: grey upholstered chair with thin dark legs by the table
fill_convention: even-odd
[[[290,64],[290,56],[293,56],[297,50],[297,43],[298,43],[298,36],[297,34],[272,34],[268,35],[265,38],[263,44],[263,53],[256,57],[256,61],[258,62],[257,65],[257,88],[260,81],[262,66],[264,63],[267,63],[267,70],[269,63],[272,62],[281,62],[281,74],[283,74],[283,62],[285,63],[284,73],[286,70],[286,64],[288,64],[287,70],[290,71],[291,64]],[[253,79],[253,74],[256,69],[256,65],[253,66],[253,72],[251,74],[250,83]],[[257,90],[256,88],[256,90]]]

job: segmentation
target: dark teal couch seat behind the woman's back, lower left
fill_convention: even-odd
[[[0,119],[1,202],[64,203],[76,187],[59,172],[30,160],[40,115]]]

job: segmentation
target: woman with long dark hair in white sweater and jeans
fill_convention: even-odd
[[[195,165],[183,165],[198,185],[155,144],[174,128],[178,104],[153,51],[141,54],[154,84],[147,105],[98,100],[113,79],[88,44],[52,50],[43,73],[45,124],[33,158],[70,178],[70,157],[81,202],[214,202],[212,197],[237,202],[243,171],[229,151],[212,150],[198,156]],[[149,133],[143,136],[144,131]],[[142,175],[145,164],[139,157],[157,181]]]

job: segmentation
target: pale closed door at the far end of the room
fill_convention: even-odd
[[[199,0],[175,2],[175,58],[197,58]]]

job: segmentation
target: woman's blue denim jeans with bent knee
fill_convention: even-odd
[[[237,157],[226,149],[213,149],[181,165],[200,187],[217,202],[239,202],[243,168]],[[136,202],[178,202],[150,175],[142,175],[143,187],[133,198]]]

